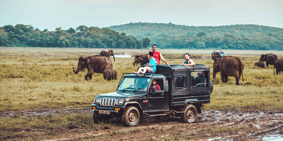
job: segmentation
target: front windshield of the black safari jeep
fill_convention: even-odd
[[[149,82],[149,78],[124,78],[118,90],[122,92],[146,91],[149,86]]]

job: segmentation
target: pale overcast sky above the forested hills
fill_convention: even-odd
[[[283,28],[283,0],[0,0],[0,27],[24,24],[54,31],[131,22]]]

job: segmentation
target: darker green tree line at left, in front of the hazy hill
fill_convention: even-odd
[[[55,31],[41,31],[23,24],[0,27],[0,46],[4,47],[145,48],[149,45],[148,38],[138,40],[108,28],[84,25],[68,30],[60,27]]]

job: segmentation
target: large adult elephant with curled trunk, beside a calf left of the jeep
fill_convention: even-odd
[[[112,61],[109,57],[101,56],[101,55],[94,55],[88,57],[80,56],[78,58],[77,69],[74,70],[72,67],[72,71],[74,74],[77,74],[80,70],[87,68],[87,74],[84,76],[84,79],[87,80],[92,79],[92,74],[95,73],[102,73],[106,69],[112,69]]]

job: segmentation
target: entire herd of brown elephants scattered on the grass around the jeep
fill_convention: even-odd
[[[110,56],[114,56],[114,51],[110,49],[104,49],[100,52],[100,55],[82,57],[78,58],[77,69],[73,72],[77,74],[80,70],[87,68],[87,74],[84,76],[84,79],[87,78],[92,79],[93,73],[103,73],[103,77],[106,80],[117,79],[117,71],[112,70],[113,63]],[[255,66],[258,67],[265,67],[263,62],[266,62],[266,66],[274,65],[274,75],[276,69],[276,75],[280,74],[283,71],[283,58],[278,58],[277,55],[269,53],[269,54],[262,54],[260,57],[259,62],[255,63]],[[133,65],[145,65],[149,62],[147,54],[136,55]],[[239,80],[242,76],[243,78],[243,69],[244,63],[239,57],[235,56],[223,56],[222,58],[215,58],[213,62],[213,79],[215,79],[216,73],[220,72],[220,77],[223,83],[228,81],[228,76],[233,76],[236,78],[236,85],[239,85]]]

